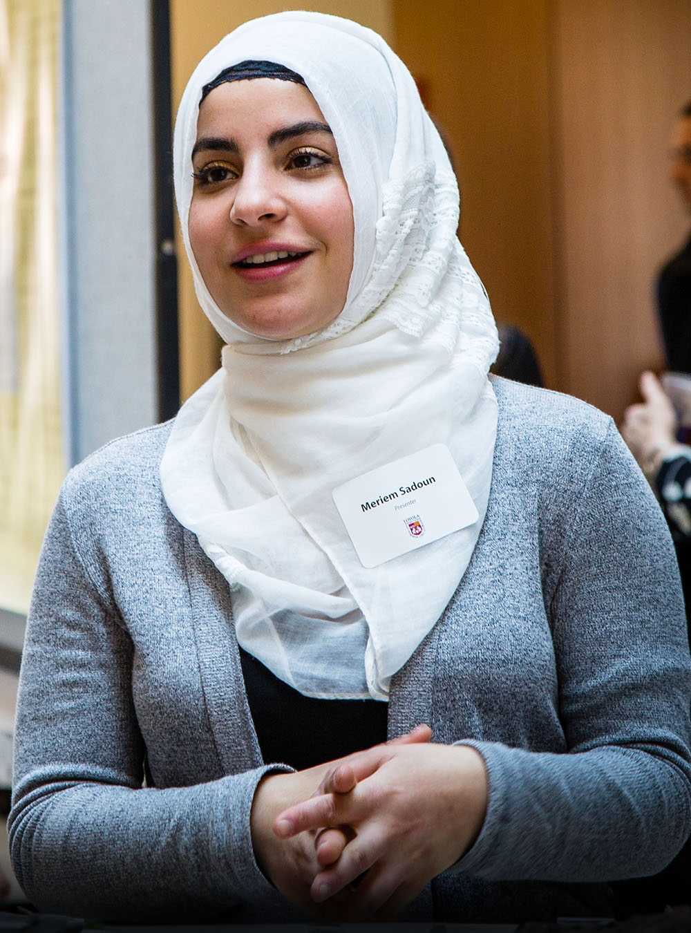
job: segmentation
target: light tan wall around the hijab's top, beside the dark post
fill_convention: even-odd
[[[393,0],[311,0],[310,9],[331,13],[370,26],[387,41],[393,41]],[[305,4],[281,0],[256,0],[248,9],[228,0],[171,0],[171,52],[173,114],[196,64],[224,35],[248,19],[304,9]],[[219,366],[220,340],[201,313],[194,294],[192,276],[179,236],[178,287],[180,322],[180,395],[186,399]]]

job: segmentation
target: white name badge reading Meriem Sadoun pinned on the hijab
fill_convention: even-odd
[[[378,466],[333,491],[364,567],[376,567],[477,522],[446,444]]]

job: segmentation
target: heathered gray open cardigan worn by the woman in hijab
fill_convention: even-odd
[[[410,920],[607,912],[602,883],[660,870],[691,827],[691,664],[655,498],[601,412],[494,387],[487,517],[388,725],[474,745],[489,809]],[[64,482],[21,668],[14,869],[46,912],[296,922],[253,856],[267,767],[228,586],[161,494],[168,432],[114,440]]]

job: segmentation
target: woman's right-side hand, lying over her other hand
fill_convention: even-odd
[[[316,902],[335,898],[331,916],[349,921],[393,919],[470,848],[488,800],[483,759],[467,745],[378,745],[342,759],[319,789],[284,810],[274,832],[352,830],[311,884]]]

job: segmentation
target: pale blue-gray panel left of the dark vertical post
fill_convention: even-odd
[[[70,459],[158,420],[151,35],[143,0],[64,0]]]

